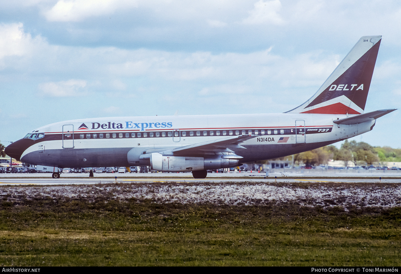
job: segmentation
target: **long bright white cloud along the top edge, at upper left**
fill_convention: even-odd
[[[52,22],[79,22],[92,16],[113,14],[117,9],[138,6],[134,0],[59,0],[44,14]]]

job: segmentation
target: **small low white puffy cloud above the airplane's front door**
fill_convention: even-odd
[[[71,79],[60,82],[48,82],[39,84],[39,89],[42,91],[44,96],[52,97],[71,97],[81,96],[82,92],[85,92],[84,88],[87,83],[85,80]]]

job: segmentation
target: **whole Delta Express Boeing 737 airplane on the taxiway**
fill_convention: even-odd
[[[363,113],[381,36],[363,36],[304,104],[279,114],[111,117],[70,120],[36,128],[5,149],[37,170],[151,166],[207,170],[268,160],[368,132],[395,109]]]

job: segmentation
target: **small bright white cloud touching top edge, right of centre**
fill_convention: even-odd
[[[249,25],[264,23],[282,25],[284,24],[284,20],[278,13],[280,9],[280,0],[272,0],[266,2],[263,2],[263,0],[259,0],[255,3],[253,10],[249,12],[249,17],[245,18],[242,22]]]

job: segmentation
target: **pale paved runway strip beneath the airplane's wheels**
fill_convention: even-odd
[[[152,183],[152,182],[178,182],[178,183],[271,183],[271,182],[369,182],[369,183],[401,183],[401,176],[388,176],[389,174],[377,173],[360,173],[358,176],[350,176],[351,174],[283,174],[270,173],[265,178],[265,173],[222,173],[208,174],[206,179],[194,179],[190,173],[147,173],[147,174],[94,174],[93,178],[89,178],[89,174],[61,174],[61,178],[53,179],[51,174],[0,174],[0,185],[69,185],[69,184],[107,184],[107,183]],[[277,176],[277,179],[275,178]],[[291,177],[287,178],[285,176]],[[117,177],[117,178],[115,178]],[[324,177],[324,178],[322,178]],[[358,178],[353,178],[358,177]],[[383,177],[383,178],[381,178]],[[380,179],[381,178],[381,179]]]

